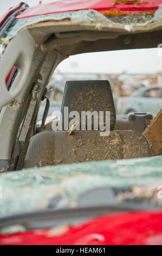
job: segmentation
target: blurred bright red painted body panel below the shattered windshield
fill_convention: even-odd
[[[0,245],[162,245],[162,212],[124,212],[69,227],[58,236],[49,229],[0,236]]]

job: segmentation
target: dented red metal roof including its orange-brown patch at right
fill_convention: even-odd
[[[61,0],[48,4],[38,4],[35,7],[25,10],[18,16],[18,19],[36,15],[89,9],[99,11],[108,16],[129,15],[132,13],[153,14],[160,4],[161,0]]]

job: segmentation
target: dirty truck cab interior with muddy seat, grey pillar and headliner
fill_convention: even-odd
[[[44,127],[37,129],[36,119],[46,97],[46,86],[63,59],[88,52],[155,48],[160,40],[161,27],[157,24],[126,31],[123,25],[112,28],[105,24],[100,30],[93,23],[46,21],[19,31],[6,45],[0,62],[0,141],[4,145],[0,149],[1,172],[154,155],[152,141],[143,133],[152,115],[136,113],[127,120],[116,119],[109,81],[67,81],[62,100],[62,110],[110,111],[108,137],[101,137],[93,126],[92,131],[74,131],[70,136],[67,130],[53,131],[50,125],[43,131]],[[16,68],[6,87],[13,66]],[[159,132],[158,128],[157,136]],[[161,155],[161,144],[155,155]]]

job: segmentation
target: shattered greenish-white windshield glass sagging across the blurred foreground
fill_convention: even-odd
[[[118,205],[126,199],[132,200],[133,204],[134,198],[138,198],[139,205],[142,205],[140,199],[143,198],[146,208],[161,207],[161,200],[157,198],[162,178],[161,161],[162,158],[157,156],[35,167],[1,174],[3,199],[0,200],[0,215],[4,217],[44,209],[94,206],[94,196],[88,200],[82,200],[82,196],[85,194],[87,198],[88,191],[105,187],[116,187],[114,197],[107,198],[107,202],[98,199],[96,205],[100,205],[100,202],[101,205],[108,205],[111,200]],[[139,205],[136,205],[137,208]]]

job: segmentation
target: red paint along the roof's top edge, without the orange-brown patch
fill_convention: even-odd
[[[22,14],[18,15],[18,19],[31,17],[36,15],[45,15],[52,13],[63,13],[66,11],[78,11],[94,9],[96,11],[105,10],[121,10],[121,11],[138,11],[145,10],[155,11],[161,4],[161,0],[144,1],[140,4],[126,3],[126,4],[112,4],[113,0],[60,0],[58,2],[48,4],[38,4],[35,7],[28,8]],[[153,3],[153,4],[152,4]],[[136,8],[134,5],[137,5]]]

